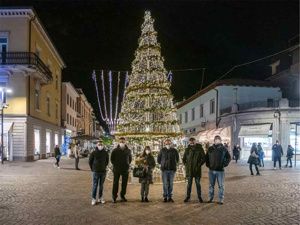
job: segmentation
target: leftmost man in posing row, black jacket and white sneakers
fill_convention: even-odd
[[[109,156],[107,151],[104,149],[103,141],[97,142],[97,147],[90,154],[90,158],[88,159],[88,164],[93,171],[93,194],[92,194],[92,205],[96,205],[96,194],[97,187],[99,183],[99,202],[105,203],[102,193],[103,193],[103,185],[106,176],[106,168],[109,162]]]

